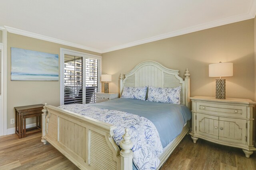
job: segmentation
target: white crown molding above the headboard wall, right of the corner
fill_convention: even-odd
[[[243,14],[243,15],[239,15],[239,16],[233,16],[233,17],[230,17],[230,18],[224,18],[222,20],[208,22],[208,23],[204,23],[204,24],[200,24],[200,25],[195,25],[195,26],[192,26],[192,27],[187,27],[185,29],[180,29],[178,31],[172,31],[172,32],[169,32],[169,33],[157,35],[157,36],[142,39],[142,40],[139,40],[139,41],[134,41],[132,43],[127,43],[127,44],[123,44],[123,45],[118,45],[116,47],[103,49],[102,53],[108,53],[108,52],[111,52],[111,51],[116,51],[116,50],[120,50],[120,49],[124,49],[124,48],[128,48],[128,47],[133,47],[133,46],[136,46],[136,45],[150,43],[150,42],[158,41],[158,40],[161,40],[161,39],[176,37],[178,35],[184,35],[184,34],[187,34],[187,33],[192,33],[192,32],[201,31],[201,30],[204,30],[204,29],[218,27],[218,26],[221,26],[221,25],[229,24],[229,23],[249,20],[249,19],[254,18],[255,14],[256,14],[256,1],[252,1],[252,6],[249,9],[247,14]]]

